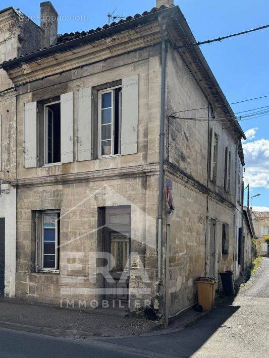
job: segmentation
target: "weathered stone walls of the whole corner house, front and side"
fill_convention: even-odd
[[[175,18],[170,16],[172,13]],[[162,31],[157,15],[164,20]],[[80,43],[71,50],[67,48],[53,55],[48,54],[53,48],[44,49],[39,52],[38,63],[31,59],[32,55],[26,55],[19,67],[16,60],[3,64],[17,93],[17,174],[13,181],[17,188],[16,296],[55,305],[73,300],[76,303],[101,301],[96,253],[102,248],[102,231],[99,229],[102,208],[131,208],[131,310],[136,310],[136,300],[142,299],[151,302],[162,314],[164,287],[168,285],[168,314],[176,315],[197,301],[194,282],[197,277],[210,274],[218,279],[220,272],[235,268],[242,218],[239,196],[244,163],[239,147],[243,133],[238,128],[227,128],[222,122],[227,113],[219,108],[218,101],[224,103],[226,100],[216,80],[210,80],[214,83],[213,96],[206,84],[197,78],[198,72],[191,68],[194,66],[191,58],[184,58],[182,51],[171,46],[171,42],[176,45],[176,38],[180,37],[180,22],[175,19],[181,16],[178,7],[155,9],[134,19],[133,26],[124,23],[122,30],[116,30],[113,35],[107,32],[90,43]],[[192,35],[188,36],[192,41]],[[164,38],[167,46],[165,178],[172,181],[175,210],[171,214],[169,243],[165,219],[168,217],[163,212],[163,274],[159,279],[157,216],[161,42]],[[201,54],[197,53],[197,56],[202,61]],[[201,71],[210,75],[205,64]],[[130,76],[137,76],[139,81],[137,152],[100,158],[96,142],[95,93],[116,86]],[[73,93],[75,134],[79,120],[79,90],[85,88],[92,89],[91,160],[77,160],[78,145],[74,141],[73,161],[25,167],[25,105],[37,103],[38,107],[45,101],[52,102],[66,93]],[[216,110],[209,115],[210,106]],[[195,108],[203,109],[198,114],[186,112],[182,117],[203,117],[206,121],[184,120],[181,115],[171,117],[172,113]],[[37,113],[40,121],[41,111]],[[214,180],[210,177],[209,165],[212,130],[218,137],[219,148]],[[37,133],[40,139],[43,134]],[[226,148],[229,148],[230,162]],[[229,179],[224,175],[228,162]],[[225,186],[227,180],[228,189]],[[37,265],[39,232],[36,227],[39,219],[36,213],[45,210],[60,211],[57,272],[38,270]],[[164,279],[166,250],[169,250],[167,280]]]

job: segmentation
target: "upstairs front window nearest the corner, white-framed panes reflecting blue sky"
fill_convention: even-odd
[[[99,91],[99,157],[121,153],[122,88]]]

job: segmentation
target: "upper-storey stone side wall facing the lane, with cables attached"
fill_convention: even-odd
[[[200,183],[207,185],[207,143],[209,102],[193,75],[176,50],[169,46],[167,59],[167,116],[178,112],[177,119],[169,120],[167,134],[167,155],[173,163],[191,173]],[[199,109],[197,108],[205,108]],[[195,109],[195,110],[192,110]],[[216,118],[223,117],[219,108],[213,108]],[[206,122],[184,120],[182,118],[203,118]],[[217,181],[208,182],[209,188],[235,204],[236,193],[236,140],[225,126],[216,120],[209,121],[209,130],[219,135]],[[168,129],[168,128],[167,128]],[[168,131],[167,131],[168,133]],[[231,189],[224,189],[225,148],[231,151]]]

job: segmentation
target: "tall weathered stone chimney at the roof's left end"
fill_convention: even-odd
[[[41,48],[57,43],[58,13],[50,1],[40,3]]]

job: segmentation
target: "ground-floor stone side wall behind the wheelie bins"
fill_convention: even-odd
[[[197,302],[194,280],[205,275],[206,216],[219,221],[218,272],[233,268],[234,209],[209,197],[190,185],[173,180],[175,210],[170,227],[170,315]],[[229,251],[222,255],[222,224],[229,224]],[[220,276],[218,276],[220,287]]]

